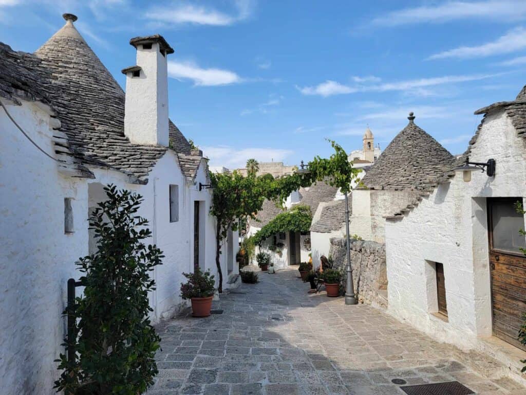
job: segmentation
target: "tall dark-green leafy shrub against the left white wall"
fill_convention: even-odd
[[[146,246],[151,232],[137,215],[140,195],[104,188],[108,199],[89,216],[97,251],[76,263],[84,273],[84,296],[64,313],[74,314],[77,325],[66,349],[77,358],[60,354],[58,391],[137,395],[153,384],[157,374],[155,351],[160,338],[148,319],[152,311],[148,292],[155,289],[149,272],[164,258],[155,245]]]

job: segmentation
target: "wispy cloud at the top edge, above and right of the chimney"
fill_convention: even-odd
[[[191,4],[175,5],[173,7],[153,7],[146,12],[146,17],[157,22],[168,24],[196,24],[210,26],[228,26],[248,18],[254,2],[249,0],[236,0],[234,2],[235,14],[228,14],[214,8],[195,6]]]

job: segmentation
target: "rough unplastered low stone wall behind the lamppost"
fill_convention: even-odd
[[[351,268],[355,293],[360,303],[387,308],[386,245],[374,241],[351,240]],[[330,252],[336,268],[345,272],[345,238],[330,239]],[[345,276],[343,280],[345,289]]]

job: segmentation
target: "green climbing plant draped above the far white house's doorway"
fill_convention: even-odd
[[[311,222],[312,215],[309,206],[292,206],[289,211],[279,213],[276,215],[276,218],[263,226],[254,235],[254,241],[257,244],[261,244],[270,236],[279,232],[308,232]]]

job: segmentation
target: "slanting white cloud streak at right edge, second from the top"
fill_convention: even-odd
[[[525,2],[526,4],[526,2]],[[428,57],[428,60],[444,58],[474,58],[485,57],[499,54],[509,54],[522,50],[526,47],[526,30],[523,27],[516,27],[497,40],[478,46],[462,46],[449,51],[440,52]]]

